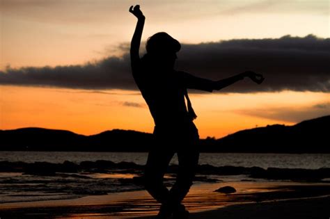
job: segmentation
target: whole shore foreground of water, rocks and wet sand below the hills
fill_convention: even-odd
[[[159,210],[143,187],[146,154],[1,153],[1,219],[155,218]],[[329,156],[201,154],[182,203],[191,218],[324,218]],[[164,179],[168,188],[177,170],[173,159]],[[215,192],[224,186],[235,192]]]

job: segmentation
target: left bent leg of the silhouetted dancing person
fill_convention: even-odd
[[[146,190],[157,202],[164,204],[168,200],[168,189],[163,184],[164,175],[171,161],[174,152],[157,145],[148,154],[145,171],[145,186]]]

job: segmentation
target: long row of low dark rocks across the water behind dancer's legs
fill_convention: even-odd
[[[23,172],[26,175],[54,176],[58,173],[120,173],[141,175],[144,165],[132,162],[114,163],[112,161],[83,161],[79,164],[65,161],[64,163],[48,162],[8,162],[0,161],[0,172]],[[178,165],[168,166],[168,174],[176,175]],[[235,166],[214,167],[212,165],[198,165],[198,175],[246,175],[255,179],[274,179],[292,181],[322,181],[330,178],[330,168],[289,169],[289,168],[267,168],[258,167],[244,168]],[[215,182],[210,178],[196,177],[196,181]],[[139,183],[138,183],[139,184]]]

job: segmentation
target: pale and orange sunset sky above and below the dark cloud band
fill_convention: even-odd
[[[136,19],[135,1],[19,1],[0,6],[0,70],[7,65],[83,64],[120,55]],[[166,31],[180,42],[278,38],[315,34],[329,38],[326,1],[155,1],[141,2],[143,40]],[[189,33],[189,34],[187,34]],[[202,138],[267,124],[294,124],[330,114],[322,92],[212,93],[190,95]],[[109,129],[152,132],[139,92],[0,86],[0,129],[45,127],[95,134]]]

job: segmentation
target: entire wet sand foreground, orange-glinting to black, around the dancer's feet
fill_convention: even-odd
[[[233,186],[233,194],[214,193]],[[330,184],[239,181],[198,184],[184,204],[191,218],[329,218]],[[146,191],[93,195],[72,200],[0,204],[0,218],[155,218]],[[147,216],[147,217],[146,217]]]

